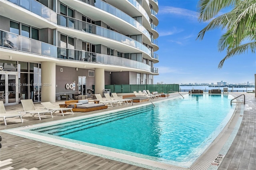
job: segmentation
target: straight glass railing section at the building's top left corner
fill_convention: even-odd
[[[36,0],[8,0],[8,1],[26,10],[29,10],[30,12],[33,12],[34,14],[37,14],[42,18],[45,18],[46,20],[53,22],[54,24],[57,24],[56,12],[40,4]]]

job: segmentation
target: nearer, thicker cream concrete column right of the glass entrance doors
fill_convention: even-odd
[[[52,61],[41,62],[42,68],[42,102],[56,102],[56,63]]]

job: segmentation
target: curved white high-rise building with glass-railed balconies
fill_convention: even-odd
[[[158,75],[157,0],[1,0],[0,7],[5,105],[153,84]]]

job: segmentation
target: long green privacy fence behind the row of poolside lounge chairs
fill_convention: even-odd
[[[92,85],[94,89],[95,85]],[[168,91],[180,91],[178,84],[154,84],[154,85],[105,85],[105,89],[110,89],[111,93],[133,93],[133,91],[149,90],[150,93],[168,93]],[[171,92],[169,92],[171,93]]]

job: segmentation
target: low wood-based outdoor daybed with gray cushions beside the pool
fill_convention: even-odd
[[[107,109],[108,106],[99,103],[89,103],[88,99],[65,101],[66,107],[72,107],[74,112],[90,112]]]

